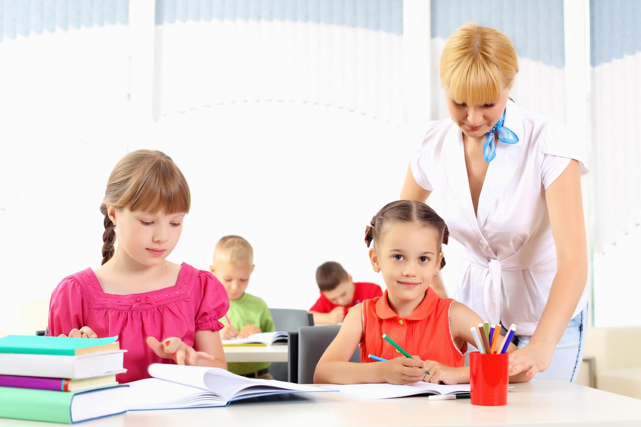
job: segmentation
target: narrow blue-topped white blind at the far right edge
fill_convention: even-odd
[[[591,182],[599,253],[607,253],[641,219],[640,22],[639,1],[590,1]]]

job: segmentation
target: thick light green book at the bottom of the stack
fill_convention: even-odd
[[[67,393],[0,387],[0,417],[71,424],[122,414],[127,387]]]

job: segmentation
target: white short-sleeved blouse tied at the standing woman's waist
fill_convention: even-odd
[[[556,248],[545,190],[570,162],[587,174],[579,144],[561,126],[512,101],[504,126],[516,144],[496,143],[474,215],[467,180],[462,131],[447,118],[429,123],[410,166],[420,187],[440,193],[438,214],[451,237],[466,248],[469,265],[456,297],[492,324],[514,323],[519,335],[532,335],[543,313],[554,275]],[[587,301],[584,289],[574,314]]]

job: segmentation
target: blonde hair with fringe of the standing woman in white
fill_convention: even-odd
[[[510,38],[498,29],[474,22],[456,29],[441,53],[441,87],[449,88],[458,103],[497,101],[503,87],[512,87],[517,72],[517,53]]]

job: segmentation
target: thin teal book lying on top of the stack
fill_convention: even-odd
[[[79,356],[120,349],[118,337],[66,338],[36,335],[7,335],[0,338],[0,353]]]

